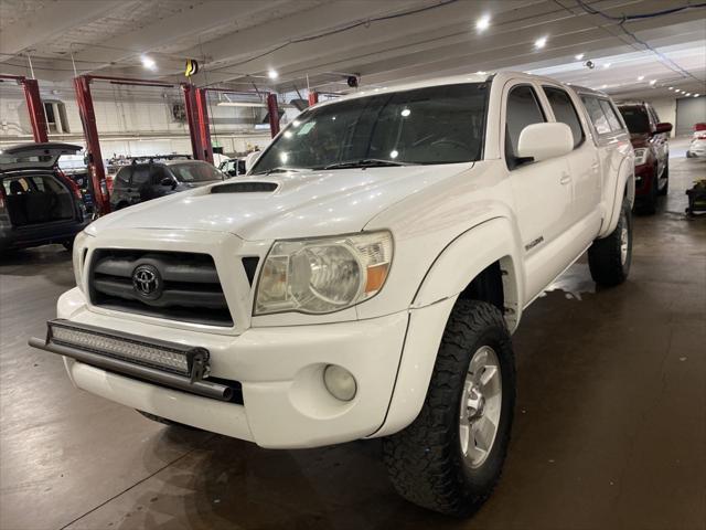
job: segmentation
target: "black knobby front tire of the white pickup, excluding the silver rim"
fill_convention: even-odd
[[[490,346],[496,353],[502,402],[489,455],[472,468],[461,451],[459,413],[469,362],[482,346]],[[407,428],[383,441],[383,459],[397,492],[450,516],[466,517],[475,511],[500,478],[514,405],[514,357],[500,310],[484,301],[458,300],[441,339],[421,412]]]

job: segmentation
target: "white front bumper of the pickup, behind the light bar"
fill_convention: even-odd
[[[388,412],[409,321],[409,312],[402,311],[368,320],[250,328],[239,336],[223,336],[94,312],[77,288],[60,298],[57,314],[76,324],[206,348],[212,377],[238,381],[243,404],[64,358],[76,386],[175,422],[276,448],[321,446],[374,434]],[[327,391],[322,374],[328,364],[339,364],[355,377],[357,393],[352,401],[339,401]]]

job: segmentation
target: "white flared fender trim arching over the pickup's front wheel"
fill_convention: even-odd
[[[459,235],[437,256],[410,308],[407,337],[383,426],[372,437],[409,425],[419,414],[436,363],[436,352],[459,294],[484,268],[501,262],[505,320],[520,322],[524,276],[516,230],[505,218],[485,221]]]

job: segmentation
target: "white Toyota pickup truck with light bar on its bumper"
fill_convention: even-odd
[[[89,225],[30,343],[154,420],[263,447],[384,437],[404,497],[468,515],[507,449],[523,310],[587,250],[596,282],[628,275],[633,168],[590,89],[362,91],[303,112],[245,178]]]

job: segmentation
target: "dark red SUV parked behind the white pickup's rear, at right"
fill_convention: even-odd
[[[657,195],[666,195],[670,188],[668,134],[672,124],[661,123],[649,103],[623,103],[618,109],[635,150],[635,208],[654,213]]]

